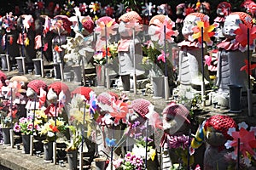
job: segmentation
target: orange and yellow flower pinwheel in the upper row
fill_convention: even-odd
[[[198,42],[202,43],[201,37],[203,36],[203,41],[207,42],[207,45],[212,45],[211,37],[214,36],[215,32],[213,31],[215,28],[215,25],[211,25],[208,20],[198,20],[197,26],[192,28],[192,31],[194,31],[194,34],[192,37],[194,39],[197,39]],[[203,35],[201,35],[201,29],[203,31]]]

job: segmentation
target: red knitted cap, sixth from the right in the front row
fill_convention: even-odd
[[[59,95],[61,93],[61,90],[63,90],[63,93],[66,95],[66,102],[70,101],[70,91],[69,88],[67,87],[67,85],[63,82],[53,82],[51,84],[49,84],[48,90],[52,88],[53,91]]]

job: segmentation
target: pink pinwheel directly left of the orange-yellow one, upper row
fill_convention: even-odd
[[[164,27],[166,26],[166,41],[173,42],[173,36],[177,37],[178,31],[173,31],[172,28],[174,27],[174,22],[172,22],[168,16],[163,23],[160,20],[154,20],[154,25],[158,26],[155,31],[155,37],[157,37],[159,44],[164,45],[165,41],[165,33]]]

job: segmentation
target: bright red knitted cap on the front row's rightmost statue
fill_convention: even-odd
[[[215,115],[207,119],[204,128],[213,127],[224,134],[226,139],[232,139],[228,134],[229,128],[236,127],[236,122],[230,116]]]

